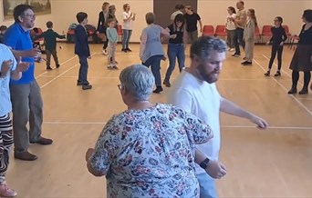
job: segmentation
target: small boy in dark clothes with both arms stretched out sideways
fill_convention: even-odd
[[[41,35],[37,35],[33,41],[39,38],[45,38],[46,54],[47,54],[47,70],[52,70],[50,66],[51,54],[53,55],[54,62],[56,62],[57,68],[59,67],[57,59],[57,38],[66,38],[65,35],[58,35],[53,31],[53,23],[51,21],[47,22],[47,31]]]

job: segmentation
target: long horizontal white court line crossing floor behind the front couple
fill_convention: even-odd
[[[49,122],[45,121],[44,124],[100,124],[106,123],[101,122]],[[221,125],[222,128],[256,128],[255,125]],[[294,129],[294,130],[312,130],[312,126],[269,126],[268,129]]]

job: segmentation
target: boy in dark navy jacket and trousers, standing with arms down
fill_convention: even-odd
[[[87,13],[80,12],[76,15],[79,25],[75,29],[75,54],[79,57],[79,74],[77,85],[82,85],[83,90],[92,89],[92,85],[88,83],[88,60],[91,58],[90,49],[88,47],[88,35],[86,25],[88,24]]]

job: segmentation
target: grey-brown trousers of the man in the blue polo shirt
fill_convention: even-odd
[[[41,137],[43,103],[40,87],[34,80],[31,84],[10,84],[10,92],[13,107],[14,151],[15,153],[26,152],[29,141],[36,142]]]

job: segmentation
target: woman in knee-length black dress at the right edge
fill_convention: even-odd
[[[292,73],[292,87],[288,94],[296,94],[296,84],[299,80],[299,72],[304,72],[304,86],[299,94],[307,94],[307,86],[311,79],[312,71],[312,10],[305,10],[302,15],[303,25],[295,54],[289,68]]]

